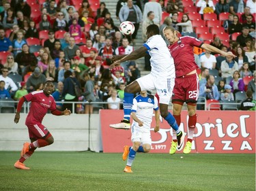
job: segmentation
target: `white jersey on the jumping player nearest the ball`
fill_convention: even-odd
[[[147,39],[145,44],[151,58],[151,73],[152,75],[162,77],[175,77],[175,67],[173,57],[171,56],[165,40],[161,35],[154,35]]]

